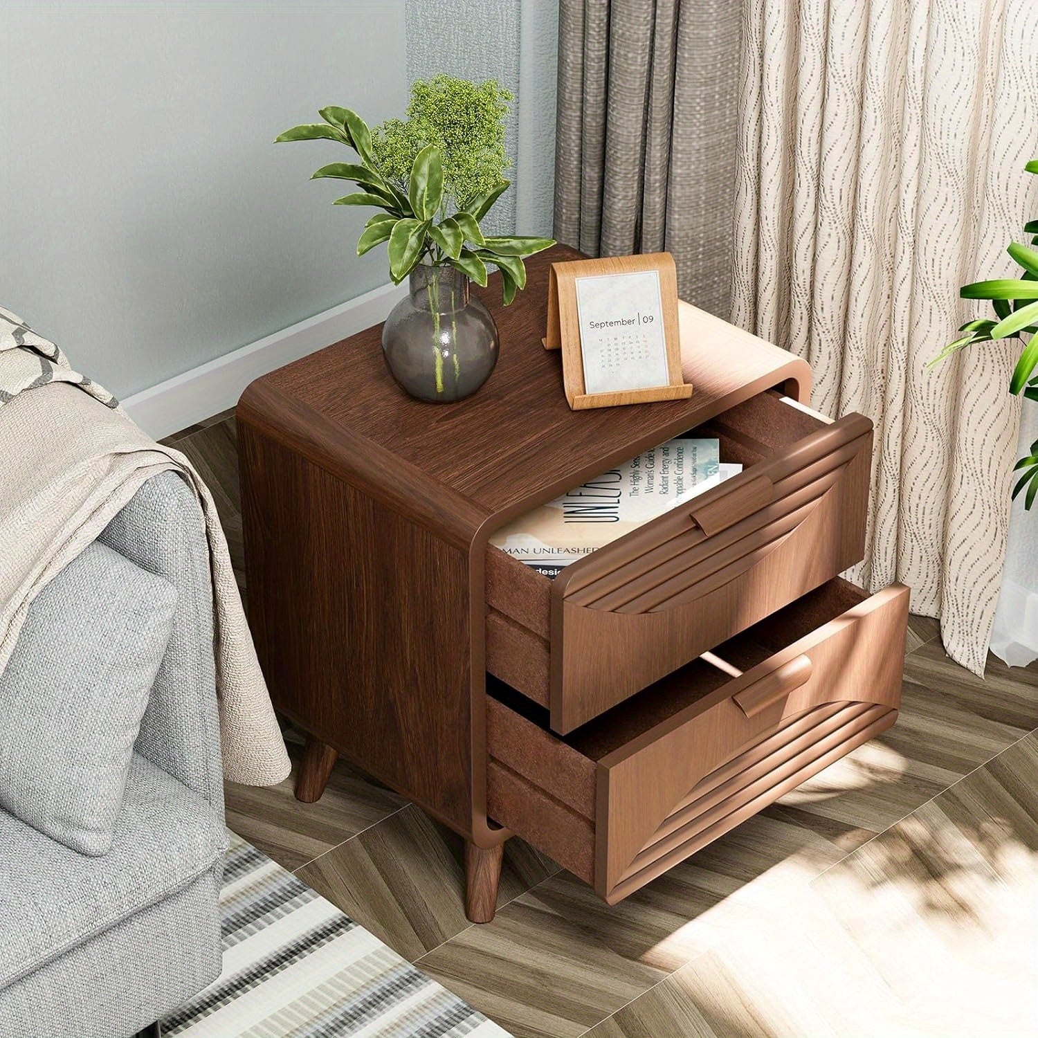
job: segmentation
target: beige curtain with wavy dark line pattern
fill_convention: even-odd
[[[1019,348],[926,362],[1010,274],[1036,210],[1038,4],[743,0],[733,320],[876,425],[866,562],[982,673],[1006,547]]]

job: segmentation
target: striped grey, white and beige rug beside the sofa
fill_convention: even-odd
[[[223,973],[164,1036],[509,1038],[234,834],[220,905]]]

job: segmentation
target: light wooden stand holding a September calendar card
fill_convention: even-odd
[[[574,411],[692,394],[681,372],[678,273],[670,252],[552,264],[543,342],[562,351]]]

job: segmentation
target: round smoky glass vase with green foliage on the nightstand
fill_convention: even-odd
[[[412,397],[446,403],[475,392],[497,362],[497,328],[469,283],[486,285],[488,267],[501,274],[508,306],[526,284],[523,260],[548,238],[484,235],[481,221],[508,190],[504,116],[512,95],[494,80],[450,76],[415,82],[405,119],[368,129],[348,108],[322,108],[323,122],[293,127],[276,139],[334,140],[355,163],[322,166],[315,179],[350,181],[358,190],[335,206],[378,210],[357,254],[387,243],[389,275],[409,281],[382,332],[393,378]]]

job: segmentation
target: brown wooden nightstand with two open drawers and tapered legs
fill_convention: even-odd
[[[908,592],[864,550],[872,427],[796,406],[807,363],[682,304],[690,400],[571,411],[541,346],[555,247],[469,400],[406,397],[380,329],[238,407],[249,618],[277,709],[467,841],[492,918],[519,834],[617,901],[894,722]],[[512,518],[698,429],[744,471],[550,581],[488,547]],[[488,673],[489,672],[489,673]],[[506,826],[502,828],[500,826]]]

